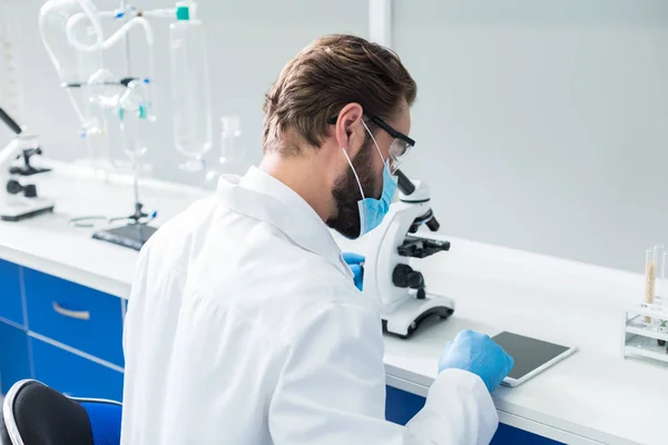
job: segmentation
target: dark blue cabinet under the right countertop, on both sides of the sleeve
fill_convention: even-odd
[[[385,402],[385,418],[395,424],[405,425],[422,407],[425,398],[387,386]],[[499,429],[492,438],[492,445],[559,445],[560,442],[531,434],[523,429],[499,424]]]

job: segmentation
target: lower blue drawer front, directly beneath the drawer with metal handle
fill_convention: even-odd
[[[35,378],[72,397],[122,400],[122,373],[30,338]]]

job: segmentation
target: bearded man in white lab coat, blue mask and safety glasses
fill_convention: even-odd
[[[124,334],[122,443],[483,444],[512,359],[464,332],[425,407],[385,421],[377,312],[330,229],[380,224],[414,141],[415,82],[391,51],[324,37],[266,95],[264,159],[141,250]]]

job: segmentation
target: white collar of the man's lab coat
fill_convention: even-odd
[[[222,176],[217,194],[230,210],[277,227],[294,243],[330,259],[353,278],[325,222],[299,195],[276,178],[253,166],[243,178]]]

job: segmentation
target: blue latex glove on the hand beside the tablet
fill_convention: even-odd
[[[439,358],[439,373],[445,369],[463,369],[484,382],[492,393],[508,376],[514,360],[489,336],[472,330],[460,332],[454,340],[445,344]]]

